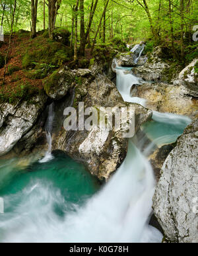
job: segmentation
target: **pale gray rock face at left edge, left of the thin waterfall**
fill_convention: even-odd
[[[45,96],[32,99],[31,104],[0,105],[0,155],[5,155],[35,124],[46,103]]]

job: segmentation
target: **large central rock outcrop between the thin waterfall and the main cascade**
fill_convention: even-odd
[[[135,131],[139,130],[141,124],[150,120],[152,116],[152,111],[141,107],[141,105],[124,103],[116,85],[105,75],[99,74],[85,87],[87,93],[81,98],[85,108],[133,107],[135,109]],[[78,101],[79,99],[75,103]],[[61,130],[53,149],[63,150],[71,157],[84,161],[90,173],[96,175],[100,180],[108,180],[125,159],[128,139],[123,138],[123,132],[127,131],[129,126],[129,122],[125,122],[122,130],[116,130],[114,126],[112,130],[98,126],[93,126],[90,131],[66,132]]]

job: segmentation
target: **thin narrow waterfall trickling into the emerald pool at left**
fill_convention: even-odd
[[[45,157],[40,160],[40,163],[46,163],[53,159],[53,155],[51,155],[51,148],[52,148],[52,138],[51,138],[51,132],[53,130],[53,119],[54,119],[54,103],[51,103],[49,105],[49,111],[48,111],[48,120],[46,122],[46,139],[48,142],[48,151],[46,152]]]

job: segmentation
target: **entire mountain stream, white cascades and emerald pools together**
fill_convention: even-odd
[[[143,81],[115,63],[117,89],[124,101],[146,106],[145,99],[131,95],[131,87]],[[18,159],[0,161],[0,197],[5,202],[0,241],[161,242],[162,234],[149,226],[156,185],[152,167],[133,140],[121,167],[99,188],[83,165],[61,153],[51,155],[53,118],[50,105],[44,159],[28,167],[20,167]],[[152,119],[141,129],[158,146],[175,142],[190,122],[158,112]]]

